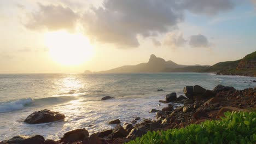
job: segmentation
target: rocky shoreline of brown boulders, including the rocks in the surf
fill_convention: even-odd
[[[149,112],[155,112],[157,120],[140,119],[136,117],[130,123],[123,123],[119,119],[110,121],[109,124],[115,124],[114,129],[100,131],[89,134],[84,129],[68,131],[58,140],[45,140],[43,136],[15,136],[9,140],[2,141],[0,144],[55,144],[55,143],[125,143],[140,137],[147,131],[167,130],[172,128],[183,128],[189,124],[198,124],[206,120],[219,119],[224,116],[226,111],[255,111],[256,110],[256,88],[247,88],[236,90],[234,87],[222,85],[216,86],[213,90],[205,89],[201,86],[186,86],[183,89],[184,95],[175,92],[167,94],[165,100],[160,103],[168,103],[162,110],[152,109]],[[111,99],[108,97],[106,99]],[[105,100],[105,99],[103,99]],[[173,103],[182,104],[180,107],[173,107]],[[26,123],[37,124],[45,122],[61,121],[65,118],[63,113],[42,110],[33,112],[25,119]]]

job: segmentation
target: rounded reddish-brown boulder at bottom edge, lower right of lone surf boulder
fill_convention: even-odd
[[[68,131],[64,136],[61,138],[61,142],[76,142],[76,141],[82,141],[89,137],[89,132],[83,128],[83,129],[75,129],[72,131]]]

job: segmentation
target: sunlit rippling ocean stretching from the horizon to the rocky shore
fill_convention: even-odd
[[[149,111],[167,105],[158,101],[171,92],[182,95],[185,86],[213,89],[222,84],[245,89],[256,87],[253,80],[211,73],[0,74],[0,141],[35,134],[59,140],[78,128],[92,134],[113,128],[107,123],[117,118],[122,124],[135,117],[154,119],[155,113]],[[107,95],[115,99],[101,101]],[[44,109],[64,113],[65,121],[24,123],[32,112]]]

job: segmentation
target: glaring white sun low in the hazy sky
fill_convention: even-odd
[[[89,61],[93,53],[88,38],[81,33],[47,32],[44,43],[53,60],[62,65],[82,64]]]

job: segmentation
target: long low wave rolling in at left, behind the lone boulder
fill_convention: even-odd
[[[42,105],[54,105],[59,103],[65,103],[76,99],[75,97],[61,96],[61,97],[47,97],[40,99],[25,98],[19,100],[5,101],[0,103],[0,113],[22,110],[27,106],[42,106]]]

